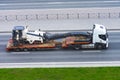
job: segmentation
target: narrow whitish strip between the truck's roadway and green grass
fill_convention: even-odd
[[[0,68],[61,68],[61,67],[113,67],[120,61],[102,62],[39,62],[39,63],[0,63]]]

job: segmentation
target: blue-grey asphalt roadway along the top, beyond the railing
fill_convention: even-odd
[[[0,10],[120,7],[120,0],[1,0]]]

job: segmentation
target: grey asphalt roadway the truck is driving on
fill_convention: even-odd
[[[107,50],[6,52],[10,35],[0,34],[0,63],[120,61],[120,32],[109,32]]]

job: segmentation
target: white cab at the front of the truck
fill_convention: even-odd
[[[92,35],[92,43],[94,44],[95,48],[108,48],[108,33],[105,26],[94,24]]]

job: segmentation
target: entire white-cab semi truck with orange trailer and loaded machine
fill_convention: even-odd
[[[36,51],[46,49],[107,49],[108,33],[105,26],[94,24],[91,32],[51,33],[15,26],[6,46],[7,51]]]

